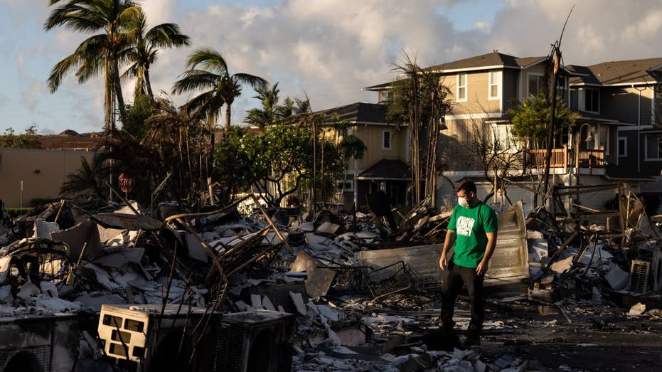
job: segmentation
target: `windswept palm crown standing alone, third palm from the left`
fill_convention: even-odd
[[[201,69],[196,69],[201,65]],[[225,105],[225,129],[230,128],[230,115],[235,98],[241,95],[243,84],[253,89],[265,88],[267,80],[247,73],[230,74],[223,55],[210,48],[200,48],[188,56],[188,70],[173,85],[173,93],[202,90],[186,103],[188,110],[196,110],[208,117],[210,124],[217,121],[220,108]],[[212,131],[213,137],[213,131]],[[213,145],[212,145],[213,146]]]

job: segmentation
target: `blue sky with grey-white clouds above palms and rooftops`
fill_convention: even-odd
[[[278,82],[281,97],[307,95],[313,110],[375,102],[361,87],[395,77],[402,53],[422,66],[498,50],[518,57],[547,55],[559,37],[565,63],[662,57],[662,0],[144,0],[151,25],[178,23],[191,47],[161,51],[151,68],[155,92],[170,93],[194,48],[223,54],[232,73]],[[46,0],[0,0],[0,133],[100,131],[100,78],[63,81],[51,94],[50,69],[85,36],[43,31]],[[127,100],[132,100],[127,84]],[[233,122],[255,107],[246,87]],[[178,103],[188,95],[173,96]]]

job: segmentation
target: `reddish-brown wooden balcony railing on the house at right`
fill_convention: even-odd
[[[567,172],[570,167],[577,166],[577,168],[604,168],[606,159],[604,157],[604,147],[599,149],[568,149],[564,145],[560,149],[552,149],[552,159],[550,161],[550,168],[562,168],[563,172]],[[544,169],[545,156],[547,149],[542,150],[527,150],[525,152],[526,166],[531,169]]]

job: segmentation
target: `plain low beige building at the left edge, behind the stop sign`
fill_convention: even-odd
[[[6,207],[29,206],[35,198],[56,199],[68,174],[90,163],[90,150],[37,150],[0,148],[0,199]]]

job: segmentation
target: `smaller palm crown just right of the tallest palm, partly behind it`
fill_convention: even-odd
[[[179,26],[175,23],[161,23],[158,26],[147,29],[147,21],[142,9],[139,9],[137,18],[134,20],[134,39],[132,47],[127,53],[127,58],[132,62],[122,78],[134,76],[136,78],[136,89],[134,95],[147,94],[154,100],[149,80],[149,66],[156,62],[156,53],[159,48],[170,48],[188,46],[188,36],[181,33]]]

